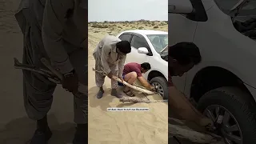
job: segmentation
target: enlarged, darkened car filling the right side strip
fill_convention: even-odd
[[[169,0],[169,46],[194,42],[202,62],[174,85],[228,144],[256,143],[256,1]]]

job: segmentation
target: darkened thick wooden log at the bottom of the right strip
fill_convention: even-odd
[[[179,124],[184,124],[182,121],[175,120],[175,122]],[[217,144],[218,142],[222,141],[222,138],[215,134],[205,134],[201,133],[195,130],[191,130],[189,127],[174,125],[171,123],[168,123],[168,132],[169,137],[177,137],[177,138],[183,138],[188,139],[191,142],[197,142],[197,143],[209,143],[209,144]],[[217,142],[217,143],[216,143]]]

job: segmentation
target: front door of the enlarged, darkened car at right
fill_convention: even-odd
[[[168,6],[179,3],[180,0],[168,0]],[[174,14],[168,11],[168,45],[173,46],[178,42],[193,42],[198,22],[206,22],[207,15],[201,0],[188,0],[193,6],[190,14]],[[180,91],[185,91],[186,75],[174,77],[174,85]]]

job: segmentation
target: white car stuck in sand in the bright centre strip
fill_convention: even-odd
[[[126,63],[149,62],[151,69],[142,75],[151,85],[157,87],[162,98],[168,98],[168,62],[164,55],[168,45],[168,33],[157,30],[127,30],[117,37],[130,42],[131,52],[126,56]]]

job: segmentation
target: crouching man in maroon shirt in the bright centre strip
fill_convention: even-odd
[[[124,66],[122,77],[126,82],[130,83],[131,85],[138,78],[139,82],[142,83],[142,86],[146,87],[148,90],[155,90],[154,86],[151,86],[150,83],[147,82],[146,78],[142,77],[142,74],[145,74],[150,69],[151,66],[148,62],[144,62],[142,64],[130,62]],[[120,82],[118,82],[118,85],[123,86],[123,84]],[[130,97],[134,97],[134,94],[130,91],[130,88],[128,86],[125,87],[125,90],[123,90],[123,92]]]

